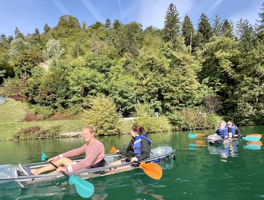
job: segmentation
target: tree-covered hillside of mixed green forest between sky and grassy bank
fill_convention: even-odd
[[[0,38],[1,93],[41,118],[73,117],[107,96],[126,117],[137,115],[138,98],[179,126],[199,110],[237,125],[263,124],[263,10],[264,3],[256,24],[202,13],[197,31],[173,4],[163,29],[109,19],[87,27],[70,15],[42,33],[16,27],[14,37]]]

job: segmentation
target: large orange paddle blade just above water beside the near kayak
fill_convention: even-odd
[[[159,180],[162,176],[162,169],[157,163],[142,162],[139,167],[144,170],[146,175],[156,180]]]

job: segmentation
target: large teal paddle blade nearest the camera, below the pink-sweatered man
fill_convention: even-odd
[[[84,179],[71,175],[69,183],[70,185],[74,184],[76,191],[81,197],[89,198],[94,193],[94,185]]]

